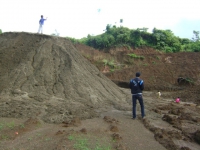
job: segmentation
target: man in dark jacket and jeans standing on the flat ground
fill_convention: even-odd
[[[144,118],[144,116],[145,116],[144,103],[143,103],[143,98],[142,98],[142,91],[144,89],[144,82],[139,77],[140,77],[140,73],[137,72],[136,78],[130,80],[130,89],[131,89],[131,93],[132,93],[132,103],[133,103],[133,108],[132,108],[133,119],[136,118],[137,99],[140,103],[142,118]]]

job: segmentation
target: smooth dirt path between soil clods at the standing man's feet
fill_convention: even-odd
[[[143,124],[143,120],[131,119],[131,111],[118,111],[112,110],[106,112],[104,115],[111,116],[119,120],[117,127],[119,128],[119,135],[122,137],[120,142],[129,150],[164,150],[165,148],[159,144],[155,138],[154,134],[147,130]]]

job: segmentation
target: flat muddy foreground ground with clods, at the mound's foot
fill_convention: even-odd
[[[130,97],[128,89],[122,89]],[[162,93],[167,97],[170,93]],[[131,97],[130,97],[131,99]],[[176,104],[155,92],[144,92],[146,118],[132,119],[131,100],[126,111],[99,108],[99,117],[73,118],[48,124],[36,118],[0,118],[1,150],[199,150],[200,107]]]

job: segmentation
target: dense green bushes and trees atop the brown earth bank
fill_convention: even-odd
[[[109,50],[111,47],[127,46],[128,48],[153,47],[164,52],[193,51],[200,52],[199,31],[194,31],[195,38],[179,38],[171,30],[154,28],[152,33],[147,28],[129,29],[107,25],[105,33],[82,38],[69,38],[73,42],[80,42],[99,50]]]

